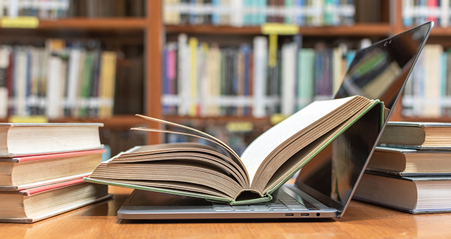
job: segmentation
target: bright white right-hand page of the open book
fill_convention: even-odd
[[[314,124],[314,122],[328,115],[333,110],[340,108],[354,97],[356,96],[330,101],[315,101],[302,110],[299,110],[294,115],[288,117],[283,122],[268,129],[252,141],[241,155],[241,160],[244,162],[247,172],[249,173],[250,181],[253,181],[261,162],[263,162],[273,150],[276,150],[280,144],[287,141],[295,134],[298,134],[299,131],[307,129],[311,124]]]

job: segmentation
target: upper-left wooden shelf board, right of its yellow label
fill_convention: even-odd
[[[39,21],[38,29],[142,30],[146,18],[65,18]]]

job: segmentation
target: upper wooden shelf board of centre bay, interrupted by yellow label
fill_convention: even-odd
[[[166,25],[167,33],[199,34],[261,34],[260,27],[229,27],[214,25]],[[356,24],[352,26],[299,27],[304,36],[359,36],[387,37],[392,33],[390,24]]]

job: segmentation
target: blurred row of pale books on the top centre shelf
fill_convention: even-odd
[[[299,26],[352,25],[353,0],[165,0],[163,22],[168,25],[232,25],[266,22]]]

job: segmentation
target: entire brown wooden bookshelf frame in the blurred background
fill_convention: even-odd
[[[381,9],[381,22],[378,23],[359,23],[352,26],[325,26],[325,27],[299,27],[299,33],[306,37],[376,37],[384,38],[407,30],[402,25],[402,1],[400,0],[382,0],[383,8]],[[199,34],[199,35],[216,35],[218,37],[245,37],[261,34],[260,27],[229,27],[229,26],[212,26],[212,25],[163,25],[163,1],[146,1],[145,17],[118,17],[118,18],[64,18],[57,20],[41,20],[37,30],[11,30],[0,28],[2,38],[11,37],[15,32],[42,32],[48,34],[70,34],[70,31],[90,32],[96,36],[106,35],[113,32],[113,36],[121,36],[127,38],[128,34],[137,36],[137,41],[142,41],[144,46],[144,113],[146,115],[175,122],[183,122],[186,120],[204,120],[199,117],[183,117],[163,115],[161,109],[161,77],[162,77],[162,59],[163,44],[168,34]],[[16,36],[12,36],[16,37]],[[20,37],[20,36],[18,36]],[[141,37],[141,39],[139,39]],[[451,27],[435,27],[431,33],[430,41],[438,41],[446,43],[446,39],[451,37]],[[135,39],[130,39],[135,41]],[[422,120],[422,121],[444,121],[449,122],[448,117],[439,118],[419,118],[419,117],[403,117],[400,112],[400,104],[395,108],[392,120]],[[252,117],[209,117],[209,122],[229,122],[229,121],[247,121],[255,124],[270,124],[268,117],[252,118]],[[143,122],[133,115],[114,115],[109,119],[85,118],[85,119],[58,119],[54,122],[104,122],[106,127],[131,127],[134,125],[147,124],[156,127],[152,123]],[[6,122],[1,119],[0,122]],[[148,134],[147,143],[159,143],[163,140],[162,136],[156,134]]]

